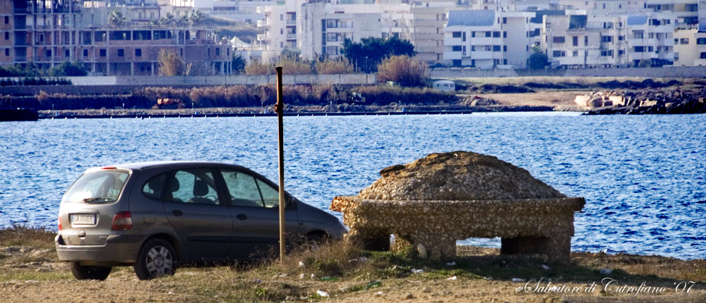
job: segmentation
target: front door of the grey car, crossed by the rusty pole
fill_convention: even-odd
[[[280,240],[279,193],[261,178],[222,169],[233,216],[233,242],[230,249],[235,259],[277,256]],[[285,209],[285,231],[297,235],[297,209]]]

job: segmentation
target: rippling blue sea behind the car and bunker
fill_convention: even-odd
[[[277,119],[68,119],[0,123],[0,228],[56,229],[68,185],[92,166],[237,163],[277,180]],[[575,251],[705,259],[706,115],[285,117],[285,189],[328,211],[387,166],[466,150],[527,169],[568,196]],[[340,216],[340,214],[336,214]],[[499,247],[498,239],[465,244]]]

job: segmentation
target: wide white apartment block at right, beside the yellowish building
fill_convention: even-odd
[[[674,24],[669,14],[545,16],[542,49],[551,66],[599,68],[674,63]]]

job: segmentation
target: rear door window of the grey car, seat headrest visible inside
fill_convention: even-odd
[[[171,202],[220,204],[213,173],[208,168],[184,169],[174,173],[171,194],[165,197]]]

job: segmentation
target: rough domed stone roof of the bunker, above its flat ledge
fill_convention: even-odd
[[[562,198],[523,168],[494,156],[446,152],[380,171],[358,197],[382,200],[488,200]]]

